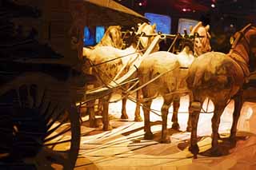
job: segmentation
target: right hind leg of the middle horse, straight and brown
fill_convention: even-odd
[[[164,102],[162,105],[161,113],[162,113],[162,136],[161,136],[161,143],[170,143],[170,136],[168,136],[168,129],[167,129],[167,117],[168,111],[170,108],[170,104],[173,100],[173,97],[165,97]]]

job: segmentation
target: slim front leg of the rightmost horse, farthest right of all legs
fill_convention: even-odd
[[[232,146],[235,146],[235,136],[237,132],[238,118],[240,117],[241,109],[242,109],[242,93],[238,93],[237,96],[234,97],[234,113],[233,113],[233,123],[232,128],[230,130],[230,142]]]

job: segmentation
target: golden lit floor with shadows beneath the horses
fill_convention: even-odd
[[[235,148],[230,148],[229,136],[232,122],[233,102],[222,115],[219,132],[223,140],[220,147],[223,156],[210,154],[212,113],[202,113],[198,123],[198,144],[200,154],[197,160],[188,151],[190,132],[185,132],[188,114],[187,97],[182,98],[178,120],[181,131],[170,129],[170,144],[160,144],[161,117],[151,113],[151,129],[154,140],[143,139],[143,122],[134,122],[135,105],[127,102],[129,120],[113,119],[111,131],[100,128],[87,128],[82,125],[82,138],[79,157],[75,169],[256,169],[256,105],[246,103],[238,122],[238,137]],[[206,101],[207,103],[207,101]],[[160,110],[162,99],[154,100],[151,109]],[[210,103],[208,112],[213,110]],[[206,110],[206,105],[204,105]],[[111,117],[121,116],[121,102],[110,105]],[[172,108],[170,108],[170,112]],[[142,115],[142,114],[141,114]],[[168,128],[171,127],[171,113]]]

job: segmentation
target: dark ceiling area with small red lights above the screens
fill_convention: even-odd
[[[190,18],[210,25],[211,45],[227,53],[230,36],[248,23],[256,23],[255,0],[115,0],[139,14],[165,14],[171,18],[171,33],[178,31],[178,19]],[[214,4],[214,7],[212,7]],[[186,11],[184,11],[186,9]]]

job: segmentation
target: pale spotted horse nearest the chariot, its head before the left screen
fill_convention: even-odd
[[[147,23],[143,23],[138,27],[138,32],[139,31],[146,34],[154,34],[155,26],[150,26]],[[134,61],[139,57],[142,57],[142,53],[140,52],[139,48],[147,49],[153,39],[153,37],[138,38],[135,36],[134,42],[132,42],[131,45],[126,49],[117,49],[113,46],[100,46],[93,50],[84,48],[84,57],[91,62],[92,73],[97,77],[97,81],[94,82],[94,88],[104,85],[108,87],[108,83],[110,83],[110,81],[113,81],[115,78],[122,77],[122,75],[128,71],[130,66],[133,65]],[[156,47],[155,50],[158,50],[158,47]],[[111,94],[102,97],[103,130],[111,129],[108,116],[110,97]],[[125,109],[122,109],[122,113],[124,110]],[[95,126],[97,125],[95,121],[94,109],[90,109],[90,127]]]

